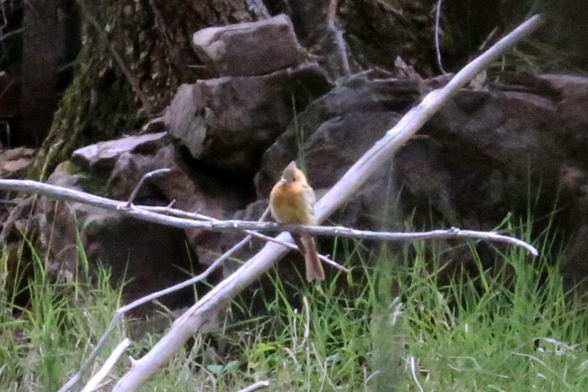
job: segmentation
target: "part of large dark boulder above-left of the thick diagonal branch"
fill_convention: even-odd
[[[258,197],[268,197],[283,168],[298,158],[313,186],[333,185],[421,95],[420,81],[387,76],[353,75],[296,116],[263,155],[255,176]]]

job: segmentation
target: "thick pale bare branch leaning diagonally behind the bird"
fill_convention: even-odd
[[[410,110],[394,128],[386,133],[383,139],[379,140],[375,146],[365,153],[343,175],[343,178],[319,200],[315,206],[319,222],[325,220],[330,213],[345,203],[368,177],[379,170],[396,150],[404,145],[447,100],[457,94],[460,88],[465,86],[492,61],[499,58],[507,49],[515,45],[517,41],[535,31],[542,24],[543,19],[539,15],[533,16],[515,31],[497,42],[483,55],[470,62],[443,89],[429,93],[416,108]],[[291,240],[290,235],[287,233],[280,234],[278,239]],[[168,333],[155,344],[149,353],[133,364],[131,369],[118,381],[113,391],[132,392],[138,390],[155,371],[164,366],[169,358],[183,347],[183,344],[193,334],[201,330],[203,326],[214,322],[215,310],[220,305],[232,300],[245,287],[258,279],[285,252],[286,249],[282,246],[274,243],[266,244],[258,254],[249,259],[235,273],[213,287],[210,292],[206,293],[186,313],[179,317]]]

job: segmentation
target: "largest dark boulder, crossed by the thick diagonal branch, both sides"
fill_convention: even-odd
[[[572,287],[588,276],[587,80],[504,75],[488,91],[463,89],[329,220],[370,229],[492,230],[509,213],[527,213],[528,195],[536,195],[537,216],[552,213],[554,200],[561,200],[579,227],[563,269]],[[292,159],[303,163],[315,190],[332,186],[417,101],[421,88],[354,76],[311,103],[263,156],[258,197],[268,197]],[[567,192],[557,196],[562,180]],[[405,226],[408,221],[414,226]],[[324,239],[319,249],[321,242],[330,249]],[[436,243],[450,249],[459,242]],[[485,266],[499,257],[483,243],[478,250]],[[457,262],[453,267],[474,266],[467,252],[444,254],[443,262]]]

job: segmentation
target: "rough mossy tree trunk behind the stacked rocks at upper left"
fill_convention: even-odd
[[[150,113],[142,108],[108,45],[138,82],[155,117],[181,83],[210,75],[199,66],[191,47],[192,33],[211,25],[252,20],[246,2],[237,0],[105,0],[84,4],[83,46],[74,81],[64,93],[49,135],[31,165],[30,177],[44,179],[76,148],[136,133],[149,119]],[[89,19],[98,22],[102,33]]]

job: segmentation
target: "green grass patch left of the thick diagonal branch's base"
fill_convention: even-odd
[[[64,375],[75,370],[98,341],[120,303],[120,291],[110,288],[104,270],[95,284],[82,278],[54,283],[39,255],[33,252],[32,259],[34,274],[23,289],[30,300],[19,306],[17,289],[6,290],[10,276],[6,249],[0,257],[1,391],[57,390],[66,381]],[[88,277],[83,257],[81,266],[80,276]],[[115,336],[107,350],[121,336]]]

